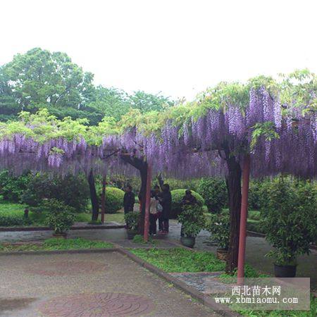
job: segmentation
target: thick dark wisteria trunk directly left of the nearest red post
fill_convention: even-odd
[[[230,211],[230,242],[228,258],[225,270],[232,273],[237,268],[239,252],[239,231],[241,212],[241,167],[235,156],[226,153],[228,176],[226,178],[228,188],[228,200]]]

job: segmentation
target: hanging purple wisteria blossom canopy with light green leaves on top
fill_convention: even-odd
[[[176,178],[225,175],[228,153],[241,163],[251,155],[251,175],[292,173],[316,177],[317,80],[307,70],[273,80],[222,82],[192,102],[161,113],[130,111],[119,123],[104,118],[57,120],[43,109],[0,124],[0,168],[78,173],[135,173],[120,159],[151,162]]]

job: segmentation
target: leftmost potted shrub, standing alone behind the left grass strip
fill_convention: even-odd
[[[54,230],[54,237],[66,237],[67,231],[73,225],[75,216],[73,207],[63,204],[57,199],[49,199],[44,203],[48,211],[46,224]]]

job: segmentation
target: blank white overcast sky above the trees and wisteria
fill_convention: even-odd
[[[317,73],[316,0],[1,0],[0,65],[65,51],[95,83],[192,99],[221,80]]]

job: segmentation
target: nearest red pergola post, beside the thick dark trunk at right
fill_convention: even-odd
[[[244,156],[243,169],[242,169],[242,201],[241,201],[238,267],[237,267],[237,278],[238,278],[237,282],[238,283],[243,283],[243,278],[244,278],[244,258],[245,258],[245,242],[247,237],[249,178],[250,178],[250,155],[247,154]]]

